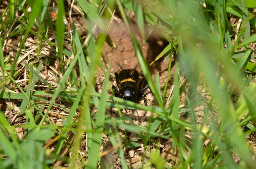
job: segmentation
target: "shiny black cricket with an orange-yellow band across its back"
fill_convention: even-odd
[[[140,98],[143,98],[147,106],[144,92],[149,86],[144,86],[145,80],[139,79],[139,73],[136,70],[138,64],[134,69],[123,69],[119,63],[117,64],[121,68],[121,71],[119,74],[115,73],[116,84],[118,86],[118,88],[112,86],[115,96],[132,102],[137,102]]]

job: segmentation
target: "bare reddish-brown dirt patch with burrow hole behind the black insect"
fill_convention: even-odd
[[[134,25],[135,26],[135,25]],[[109,36],[116,47],[111,47],[108,43],[105,43],[102,51],[103,62],[106,66],[110,63],[110,81],[112,85],[116,85],[114,73],[120,71],[120,67],[117,65],[118,62],[124,69],[134,68],[138,59],[136,57],[130,36],[127,28],[120,18],[113,20],[108,31]],[[137,38],[139,43],[142,43],[142,37],[137,32]],[[160,52],[166,47],[168,43],[161,38],[157,37],[156,33],[152,33],[146,43],[142,46],[141,50],[146,60],[146,63],[150,63],[160,54]],[[172,58],[173,59],[173,58]],[[172,60],[174,65],[174,59]],[[152,78],[155,79],[156,73],[160,75],[160,84],[164,86],[167,76],[169,59],[164,61],[164,57],[160,58],[153,65],[151,65],[150,73]],[[137,70],[142,73],[140,66],[138,65]],[[171,71],[173,72],[173,71]],[[100,75],[100,73],[98,74]],[[170,75],[170,82],[172,82],[172,73]],[[170,88],[171,83],[168,84]],[[99,88],[101,88],[99,86]]]

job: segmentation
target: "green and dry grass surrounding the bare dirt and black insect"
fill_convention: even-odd
[[[138,147],[144,168],[256,167],[254,0],[77,0],[66,12],[62,0],[11,0],[1,5],[6,10],[0,16],[0,168],[68,164],[94,169],[99,162],[100,167],[113,167],[117,164],[106,163],[103,157],[110,151],[116,152],[122,168],[129,168],[132,164],[123,150]],[[88,29],[85,41],[72,21],[74,6]],[[52,7],[58,9],[56,18],[50,14]],[[101,57],[114,11],[126,24],[158,106],[142,106],[107,92],[110,68],[103,66]],[[130,26],[129,11],[135,15],[142,44]],[[152,79],[141,51],[154,28],[169,42],[155,61],[176,59],[173,75],[169,59],[163,86],[159,76]],[[33,47],[28,45],[29,37],[34,39]],[[17,39],[16,46],[10,43]],[[96,69],[106,77],[102,93],[94,88]],[[168,84],[174,85],[173,90]],[[208,97],[202,96],[200,88]],[[186,98],[186,106],[180,105],[181,97]],[[198,106],[204,112],[200,123]],[[154,117],[142,127],[125,116],[106,116],[109,107],[146,110]],[[51,118],[54,110],[60,123]],[[181,112],[190,118],[182,120]],[[121,138],[120,128],[136,138]],[[103,134],[113,149],[105,149]],[[85,149],[80,147],[82,138],[86,138]],[[171,141],[169,154],[175,157],[168,161],[161,156],[160,144],[165,140]]]

